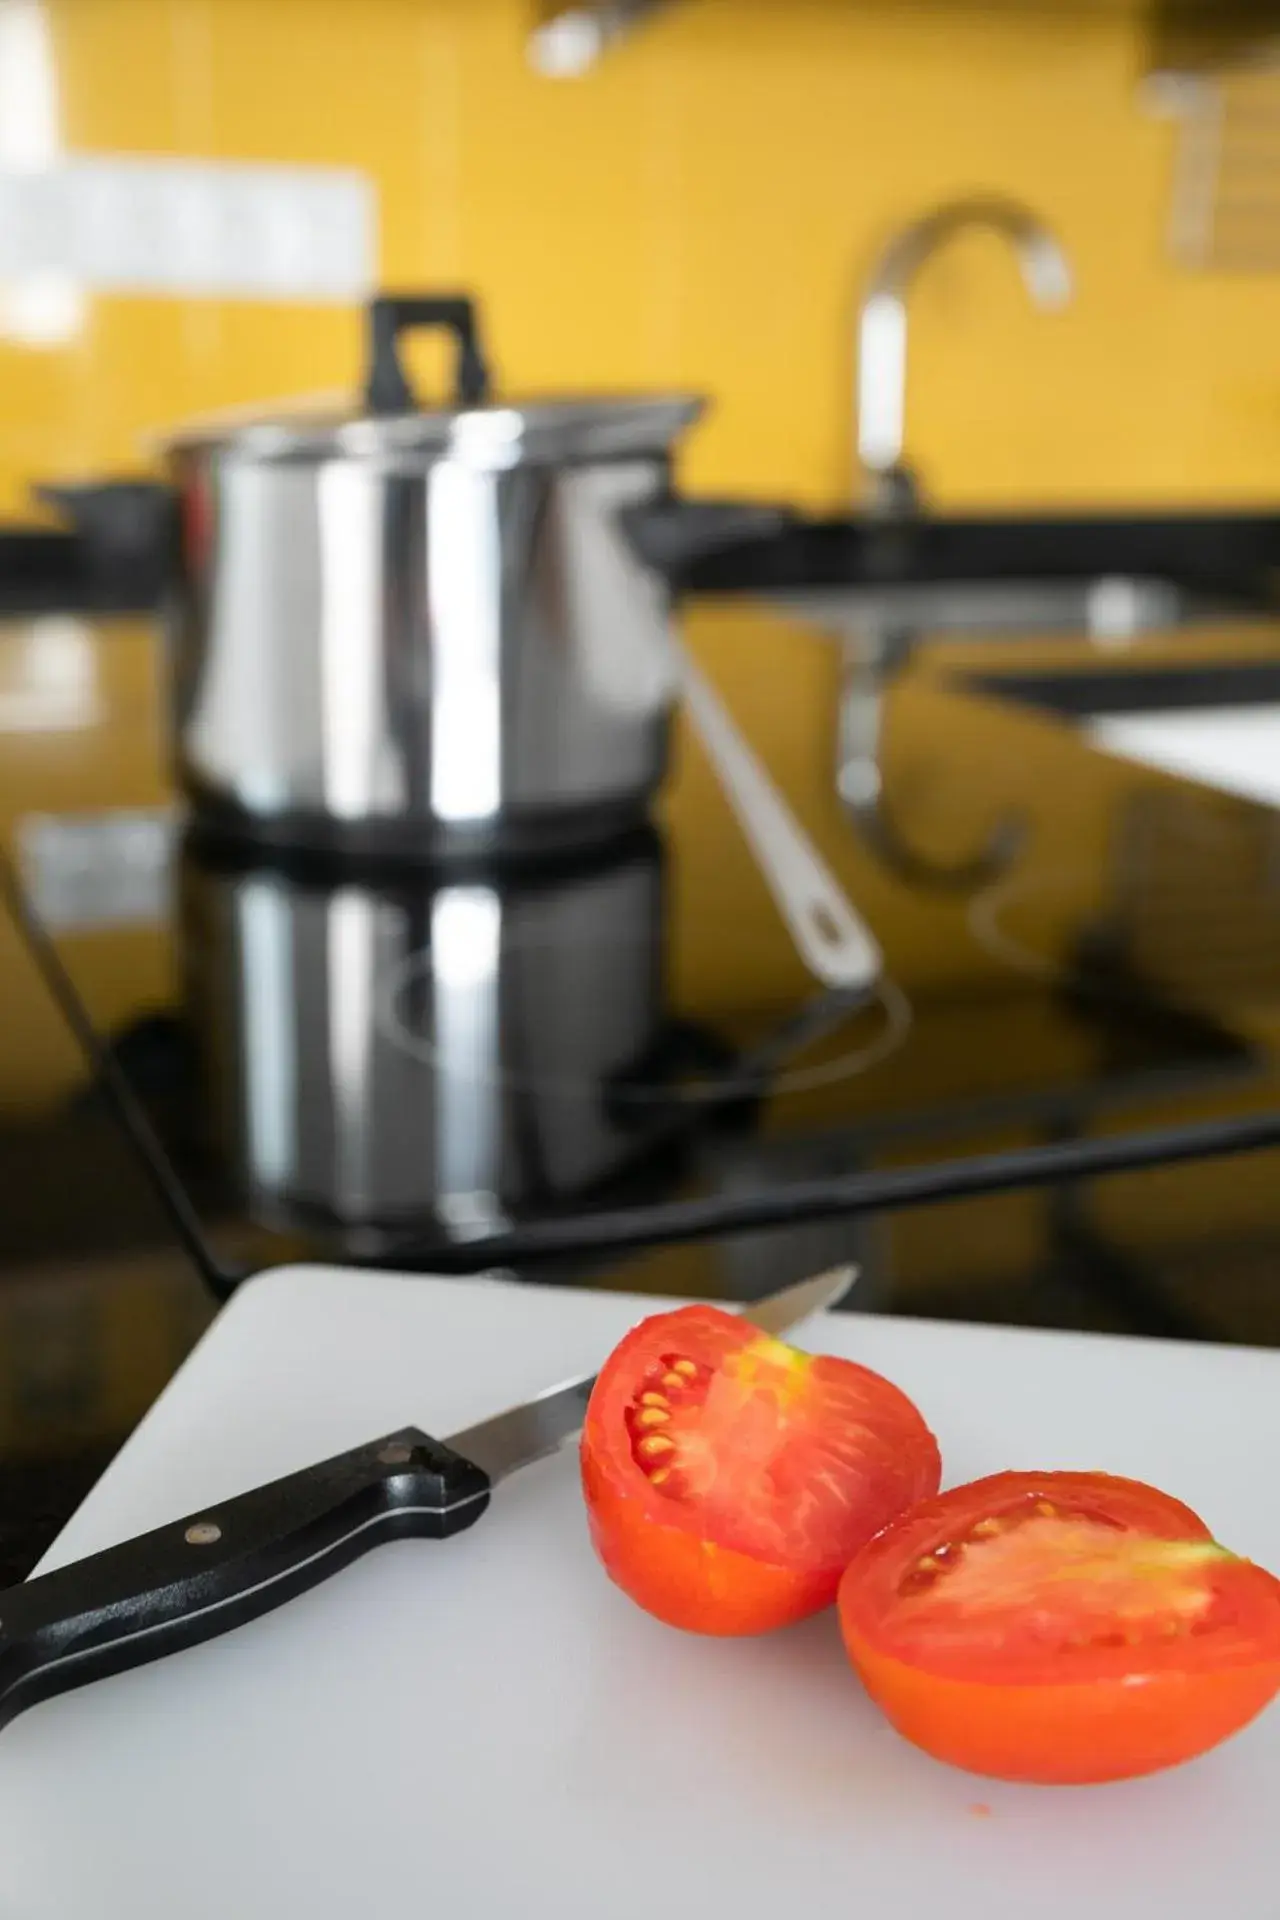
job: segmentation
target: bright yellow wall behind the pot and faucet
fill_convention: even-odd
[[[919,292],[912,444],[948,503],[1274,497],[1280,280],[1165,252],[1173,131],[1128,0],[683,0],[593,77],[528,71],[533,0],[46,0],[71,150],[368,169],[391,282],[478,288],[512,388],[695,386],[700,486],[839,503],[850,309],[879,242],[961,188],[1075,255],[1031,313],[998,242]],[[0,344],[0,511],[142,428],[347,384],[349,313],[102,298]]]

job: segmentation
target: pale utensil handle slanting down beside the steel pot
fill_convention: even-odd
[[[689,651],[672,645],[689,714],[800,958],[827,987],[871,987],[885,964],[871,929]]]

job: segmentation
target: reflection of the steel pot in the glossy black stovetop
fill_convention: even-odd
[[[518,885],[188,849],[178,899],[209,1144],[259,1221],[468,1238],[643,1160],[612,1089],[666,1018],[652,835]]]

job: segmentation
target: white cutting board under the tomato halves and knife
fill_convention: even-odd
[[[249,1283],[46,1567],[380,1432],[593,1365],[654,1302],[334,1269]],[[1280,1567],[1280,1354],[835,1315],[946,1480],[1107,1467]],[[831,1615],[710,1642],[587,1546],[566,1452],[449,1544],[0,1734],[4,1920],[1274,1920],[1280,1707],[1109,1788],[1011,1788],[904,1745]]]

